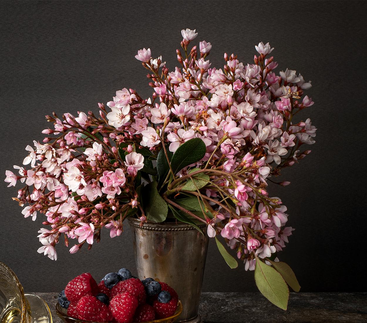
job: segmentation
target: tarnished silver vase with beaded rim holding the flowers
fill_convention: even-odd
[[[128,219],[132,229],[135,263],[140,279],[152,277],[177,291],[183,311],[177,322],[201,322],[201,285],[208,236],[187,224],[144,223]],[[202,228],[206,232],[206,226]]]

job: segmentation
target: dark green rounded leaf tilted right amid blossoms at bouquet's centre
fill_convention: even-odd
[[[206,146],[200,138],[193,138],[179,146],[172,156],[171,167],[175,174],[182,168],[201,160],[205,156]]]

